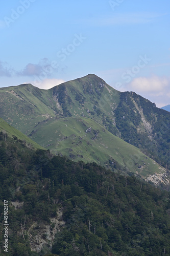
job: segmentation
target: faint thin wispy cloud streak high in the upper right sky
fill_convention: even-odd
[[[132,24],[147,24],[153,22],[158,17],[166,14],[161,13],[117,13],[110,17],[93,17],[89,19],[77,20],[90,26],[114,26],[114,25],[132,25]]]

